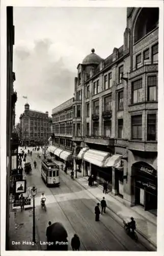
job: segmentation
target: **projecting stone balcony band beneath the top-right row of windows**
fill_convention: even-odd
[[[132,69],[129,73],[129,79],[132,79],[135,76],[141,75],[143,73],[157,72],[157,71],[158,71],[158,63],[143,65],[138,69],[136,68]]]

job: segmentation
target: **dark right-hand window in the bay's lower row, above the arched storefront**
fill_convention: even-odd
[[[156,140],[156,114],[147,116],[147,140]]]

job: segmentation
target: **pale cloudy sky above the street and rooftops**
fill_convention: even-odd
[[[106,58],[123,45],[126,8],[14,7],[16,122],[30,108],[49,112],[73,97],[77,65],[95,49]]]

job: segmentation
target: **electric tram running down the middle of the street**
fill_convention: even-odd
[[[59,165],[53,162],[51,159],[42,160],[41,164],[41,177],[44,180],[46,186],[60,185],[60,168]]]

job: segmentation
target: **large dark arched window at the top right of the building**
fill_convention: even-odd
[[[142,8],[134,27],[134,43],[158,26],[159,8]]]

